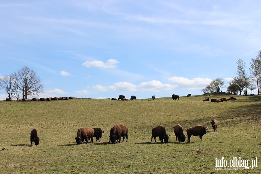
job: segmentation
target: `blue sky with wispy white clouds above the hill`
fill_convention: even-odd
[[[203,94],[261,50],[261,1],[0,1],[0,75],[23,66],[39,97]],[[249,73],[248,73],[249,74]],[[254,91],[257,93],[257,90]],[[0,99],[6,99],[0,90]]]

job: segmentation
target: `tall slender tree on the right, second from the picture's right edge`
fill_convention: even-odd
[[[246,62],[244,62],[242,59],[238,59],[238,61],[237,61],[238,72],[235,73],[235,75],[237,75],[238,79],[243,80],[243,86],[242,87],[243,87],[244,95],[247,95],[248,86],[251,84],[249,77],[247,75],[247,72],[246,72],[246,66],[247,66]]]

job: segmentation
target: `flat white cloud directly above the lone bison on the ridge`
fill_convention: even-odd
[[[160,92],[162,90],[173,90],[177,87],[176,85],[162,84],[160,81],[157,81],[157,80],[152,80],[149,82],[142,82],[138,86],[142,90],[154,91],[154,92]]]

